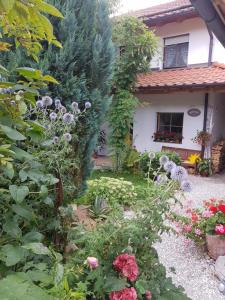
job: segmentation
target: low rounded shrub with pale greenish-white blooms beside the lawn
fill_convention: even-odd
[[[130,204],[136,199],[137,194],[130,181],[125,181],[123,178],[101,177],[88,182],[86,194],[88,203],[93,204],[96,197],[100,197],[106,200],[109,205],[114,206],[118,203]]]

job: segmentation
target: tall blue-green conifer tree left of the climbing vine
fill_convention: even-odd
[[[40,60],[39,67],[60,82],[58,86],[52,85],[49,92],[67,105],[77,101],[81,109],[86,101],[92,104],[79,126],[79,142],[74,145],[74,155],[80,161],[74,178],[81,188],[90,173],[91,155],[111,100],[114,48],[108,2],[49,2],[64,15],[60,22],[53,20],[55,35],[63,48],[50,46]]]

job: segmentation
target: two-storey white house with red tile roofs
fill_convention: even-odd
[[[184,158],[201,151],[210,156],[211,146],[225,139],[224,47],[189,0],[132,15],[159,37],[151,72],[137,79],[134,146],[140,152],[175,150]],[[208,149],[193,141],[202,130],[212,134]]]

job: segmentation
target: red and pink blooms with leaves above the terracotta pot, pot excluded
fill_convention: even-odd
[[[206,234],[225,238],[225,202],[210,199],[200,209],[188,207],[185,216],[175,216],[176,231],[199,244],[205,243]]]

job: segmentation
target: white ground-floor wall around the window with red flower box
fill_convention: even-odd
[[[203,128],[204,118],[204,94],[180,93],[168,95],[141,95],[140,106],[134,115],[134,145],[137,150],[160,151],[162,146],[201,150],[201,147],[192,142],[197,130]],[[190,117],[188,110],[198,108],[201,114],[198,117]],[[183,136],[182,144],[154,142],[153,135],[157,130],[158,112],[183,112]]]

